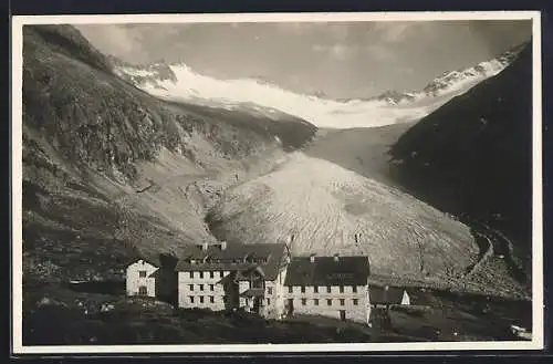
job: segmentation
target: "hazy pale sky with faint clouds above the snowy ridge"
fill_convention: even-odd
[[[218,79],[260,77],[301,93],[369,97],[418,91],[437,75],[530,40],[530,21],[81,24],[104,53],[185,62]]]

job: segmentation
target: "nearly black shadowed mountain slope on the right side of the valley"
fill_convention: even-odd
[[[532,53],[452,98],[392,148],[400,184],[507,233],[530,254]]]

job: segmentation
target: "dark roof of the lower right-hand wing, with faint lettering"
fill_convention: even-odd
[[[285,285],[365,285],[368,257],[296,257],[290,262]]]

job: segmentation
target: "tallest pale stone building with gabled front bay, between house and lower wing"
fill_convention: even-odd
[[[242,308],[267,318],[283,314],[284,243],[201,245],[177,263],[178,306],[213,311]]]

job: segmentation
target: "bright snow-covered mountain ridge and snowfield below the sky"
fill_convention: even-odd
[[[514,54],[514,53],[513,53]],[[503,70],[512,54],[452,71],[434,80],[422,91],[388,91],[371,98],[331,100],[280,87],[263,77],[218,80],[197,73],[185,63],[158,62],[147,66],[115,63],[115,72],[144,91],[171,101],[228,110],[248,110],[274,115],[276,111],[303,118],[317,127],[373,127],[413,122],[426,116],[451,97]]]

